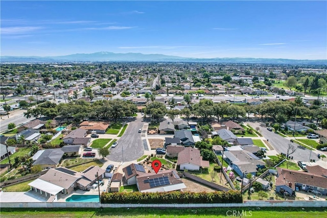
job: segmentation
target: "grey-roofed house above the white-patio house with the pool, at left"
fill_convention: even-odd
[[[59,166],[63,154],[61,149],[45,149],[32,165],[39,165],[42,169],[55,168]]]

